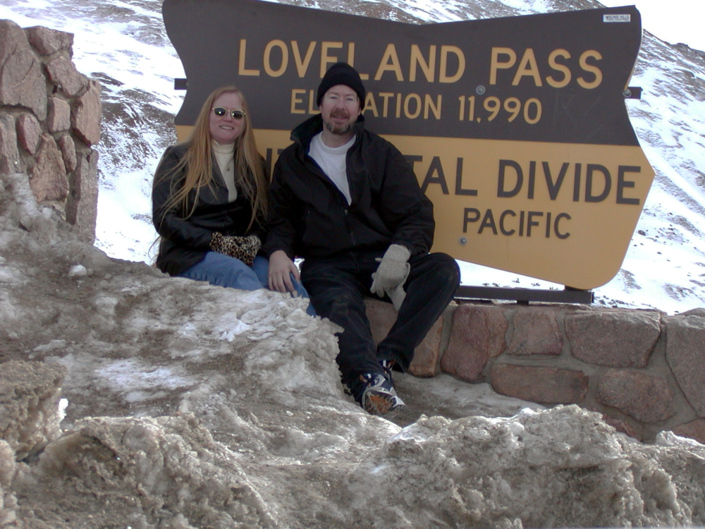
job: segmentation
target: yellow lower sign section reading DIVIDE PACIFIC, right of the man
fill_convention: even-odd
[[[434,250],[586,290],[619,271],[654,178],[639,147],[389,139],[428,153]]]

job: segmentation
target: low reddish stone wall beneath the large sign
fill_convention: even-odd
[[[377,341],[396,319],[368,300]],[[525,401],[576,403],[632,437],[673,430],[705,444],[705,309],[453,303],[419,345],[413,375],[489,382]]]

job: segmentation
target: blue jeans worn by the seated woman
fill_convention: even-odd
[[[207,252],[201,262],[181,272],[179,277],[208,281],[212,285],[226,288],[240,288],[240,290],[259,290],[268,288],[269,260],[262,255],[257,255],[252,267],[235,257],[229,257],[217,252]],[[296,290],[296,296],[308,298],[309,295],[302,284],[291,276],[291,281]],[[294,296],[294,294],[292,294]],[[313,305],[309,303],[306,310],[311,316],[316,315]]]

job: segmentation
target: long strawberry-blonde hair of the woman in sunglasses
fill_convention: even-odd
[[[176,166],[164,175],[164,178],[171,178],[174,174],[178,174],[185,169],[185,176],[179,178],[178,181],[173,181],[171,197],[164,205],[167,211],[173,208],[179,208],[184,212],[185,217],[190,217],[196,207],[200,189],[204,186],[213,185],[213,150],[211,143],[211,133],[209,128],[211,109],[213,103],[218,97],[223,94],[233,92],[240,96],[240,102],[243,104],[245,117],[243,118],[243,131],[235,140],[235,179],[240,177],[240,186],[245,193],[245,196],[252,202],[252,217],[247,230],[252,227],[255,219],[260,217],[266,219],[267,209],[269,208],[269,179],[267,178],[262,157],[257,151],[255,143],[255,134],[252,132],[252,121],[250,118],[250,109],[247,107],[245,95],[235,86],[221,86],[216,88],[206,98],[201,111],[196,118],[196,123],[191,131],[189,138],[184,142],[188,145],[188,149],[182,159]],[[154,184],[156,185],[155,178]],[[188,210],[188,195],[192,189],[196,190],[196,200]]]

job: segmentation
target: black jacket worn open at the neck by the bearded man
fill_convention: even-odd
[[[346,158],[351,204],[309,157],[323,130],[320,115],[293,130],[293,145],[280,155],[270,189],[269,235],[262,253],[328,257],[346,250],[386,250],[404,245],[427,253],[434,238],[431,201],[414,171],[390,142],[355,123],[355,145]]]

